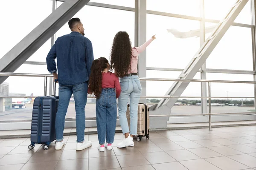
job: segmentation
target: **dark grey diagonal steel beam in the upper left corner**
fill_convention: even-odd
[[[90,0],[65,0],[0,59],[0,72],[14,72]],[[0,77],[0,84],[8,77]]]

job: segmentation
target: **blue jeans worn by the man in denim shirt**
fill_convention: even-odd
[[[67,108],[70,103],[70,98],[74,94],[75,108],[76,108],[76,136],[78,143],[84,142],[85,129],[85,105],[87,102],[87,88],[88,82],[79,85],[59,85],[59,103],[56,114],[55,130],[56,141],[63,140],[63,132],[65,125],[65,116]]]

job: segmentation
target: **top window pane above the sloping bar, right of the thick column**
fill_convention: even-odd
[[[147,0],[147,10],[200,17],[199,0]]]

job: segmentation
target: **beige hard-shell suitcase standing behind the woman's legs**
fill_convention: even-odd
[[[130,105],[127,105],[126,117],[130,127]],[[149,139],[149,108],[144,103],[138,105],[138,127],[137,127],[137,141],[140,141],[143,136]]]

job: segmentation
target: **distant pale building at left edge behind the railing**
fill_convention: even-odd
[[[0,96],[9,96],[9,83],[0,84]],[[12,98],[0,98],[0,112],[12,110]]]

